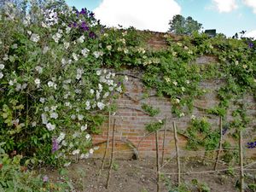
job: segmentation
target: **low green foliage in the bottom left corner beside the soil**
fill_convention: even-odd
[[[12,159],[3,151],[3,143],[0,143],[0,191],[65,191],[70,190],[71,184],[51,183],[48,177],[38,175],[27,170],[26,166],[20,166],[21,155],[15,155]],[[47,179],[46,179],[47,178]]]

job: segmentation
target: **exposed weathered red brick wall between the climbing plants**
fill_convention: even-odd
[[[152,49],[165,49],[167,44],[164,38],[165,33],[152,33],[151,38],[148,41],[148,47]],[[205,65],[208,62],[214,61],[214,58],[210,56],[201,56],[196,60],[198,64]],[[112,128],[113,128],[113,119],[115,119],[115,132],[114,132],[114,155],[122,159],[131,159],[135,156],[141,158],[154,157],[155,156],[155,137],[154,133],[149,134],[145,130],[145,125],[156,121],[159,119],[166,119],[166,142],[165,142],[165,155],[168,158],[175,156],[175,143],[173,138],[172,131],[172,122],[175,121],[177,124],[178,130],[184,130],[188,127],[190,121],[190,116],[185,116],[181,119],[172,117],[171,113],[171,103],[168,98],[154,96],[154,90],[150,90],[150,96],[148,98],[143,98],[143,92],[145,92],[145,87],[140,81],[139,77],[141,76],[140,72],[125,70],[122,72],[126,74],[129,78],[125,82],[125,91],[119,96],[119,99],[116,101],[118,104],[117,113],[114,116],[111,116],[110,121],[110,140],[112,139]],[[201,88],[206,89],[207,94],[202,96],[200,99],[195,101],[195,109],[193,114],[196,117],[207,116],[209,122],[212,124],[212,127],[218,128],[218,117],[215,115],[209,115],[205,113],[204,109],[212,108],[218,104],[218,98],[216,90],[220,87],[223,82],[219,79],[212,81],[202,82]],[[250,139],[256,138],[255,130],[256,127],[256,105],[253,99],[253,96],[247,96],[247,113],[250,120],[247,131],[244,134],[244,146]],[[154,106],[154,108],[160,108],[160,114],[155,117],[148,116],[147,113],[143,112],[142,104],[146,103],[148,105]],[[228,120],[231,120],[231,112],[235,109],[232,106],[229,110]],[[108,121],[102,125],[102,134],[93,136],[93,143],[98,145],[100,149],[96,151],[95,157],[102,157],[106,140],[108,135]],[[163,144],[163,135],[164,127],[159,132],[159,146],[160,153],[162,153],[162,144]],[[234,145],[237,142],[232,141],[230,137],[224,137],[231,141]],[[194,152],[188,151],[185,149],[187,143],[187,138],[181,135],[178,135],[178,145],[180,148],[181,156],[198,156],[203,155],[204,152]],[[111,146],[111,145],[109,145]],[[108,154],[110,148],[108,149]],[[256,149],[246,149],[246,156],[256,158]]]

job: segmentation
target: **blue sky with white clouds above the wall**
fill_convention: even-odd
[[[77,9],[87,8],[106,26],[134,26],[166,32],[173,15],[191,16],[203,29],[216,29],[231,37],[246,31],[256,39],[256,0],[66,0]]]

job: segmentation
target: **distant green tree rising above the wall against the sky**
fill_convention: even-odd
[[[184,18],[183,15],[174,15],[169,22],[169,32],[174,32],[177,35],[191,35],[192,32],[201,30],[201,23],[193,20],[192,17]]]

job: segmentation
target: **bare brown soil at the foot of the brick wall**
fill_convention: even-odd
[[[165,161],[165,166],[160,172],[172,173],[161,174],[160,191],[174,192],[177,184],[177,166],[175,160]],[[109,161],[106,161],[102,170],[101,177],[98,178],[102,160],[89,159],[79,161],[67,167],[67,176],[75,187],[75,191],[86,192],[149,192],[156,191],[156,166],[155,160],[114,160],[108,189],[106,189]],[[234,174],[228,172],[211,172],[213,165],[202,160],[189,160],[182,162],[182,172],[192,172],[192,174],[183,174],[182,182],[189,187],[189,190],[180,191],[198,191],[207,192],[203,186],[207,186],[211,192],[235,192],[239,183],[239,172]],[[227,169],[227,166],[219,165],[218,169]],[[210,171],[210,172],[208,172]],[[205,172],[205,173],[199,173]],[[61,175],[57,170],[46,171],[45,174],[55,182],[61,181]],[[173,174],[174,173],[174,174]],[[247,172],[252,177],[256,177],[256,171]],[[196,179],[196,180],[195,180]],[[192,182],[192,180],[194,182]],[[197,181],[197,185],[195,184]],[[250,181],[252,183],[253,180]],[[254,180],[255,182],[255,180]],[[194,183],[194,184],[193,184]],[[246,191],[252,191],[247,189]]]

